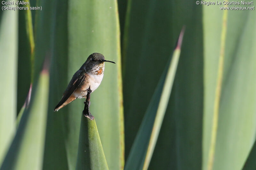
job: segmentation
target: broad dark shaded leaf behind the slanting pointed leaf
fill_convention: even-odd
[[[170,47],[174,47],[181,27],[186,25],[171,98],[149,169],[201,169],[202,6],[187,0],[129,2],[130,20],[126,20],[128,33],[122,52],[125,155],[130,152],[153,89],[172,53]]]

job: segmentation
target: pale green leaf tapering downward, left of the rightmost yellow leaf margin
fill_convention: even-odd
[[[213,107],[217,82],[218,62],[220,56],[220,33],[222,28],[223,15],[223,12],[220,12],[217,8],[209,8],[208,10],[203,8],[204,16],[207,16],[208,12],[214,12],[216,15],[214,17],[212,16],[211,18],[210,16],[208,16],[208,18],[203,18],[204,29],[212,30],[211,33],[204,31],[204,124],[202,165],[204,170],[207,169],[212,133]]]

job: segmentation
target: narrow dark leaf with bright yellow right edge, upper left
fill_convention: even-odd
[[[29,2],[28,0],[26,0]],[[17,83],[17,113],[24,105],[32,81],[32,70],[34,62],[34,33],[32,25],[30,5],[28,10],[19,11],[19,52],[18,52],[18,83]],[[21,117],[21,115],[19,115]],[[18,121],[19,122],[19,121]]]

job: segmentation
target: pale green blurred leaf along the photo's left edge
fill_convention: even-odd
[[[17,101],[18,11],[1,11],[0,22],[0,165],[15,132]]]

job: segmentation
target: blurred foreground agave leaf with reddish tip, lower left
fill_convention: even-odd
[[[42,169],[48,93],[49,73],[44,68],[32,91],[31,106],[22,115],[1,170]]]

